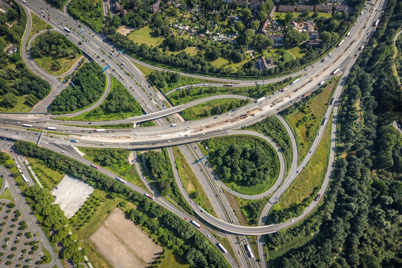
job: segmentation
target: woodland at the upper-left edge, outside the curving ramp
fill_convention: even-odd
[[[12,27],[6,25],[16,20]],[[19,52],[8,55],[4,51],[9,43],[15,43],[20,49],[25,25],[25,12],[16,3],[12,2],[7,13],[0,12],[0,107],[14,107],[21,95],[27,95],[25,103],[33,107],[50,92],[49,83],[27,68]]]

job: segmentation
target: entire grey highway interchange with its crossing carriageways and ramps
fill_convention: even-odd
[[[43,15],[40,10],[44,10],[46,13],[51,16],[50,21],[45,20],[47,23],[52,25],[55,30],[59,31],[62,34],[66,34],[63,31],[64,27],[68,25],[68,27],[72,28],[75,31],[80,31],[82,29],[78,28],[78,24],[74,19],[70,16],[66,16],[66,14],[60,12],[59,10],[47,5],[45,2],[39,0],[33,1],[26,1],[27,3],[23,3],[22,1],[18,1],[19,4],[24,6],[25,10],[31,11],[38,16]],[[375,7],[379,7],[383,4],[383,1],[377,1],[375,3]],[[76,43],[84,52],[86,56],[98,62],[98,64],[102,67],[106,67],[107,64],[111,65],[111,68],[107,69],[105,72],[107,75],[113,75],[117,78],[120,78],[120,81],[123,85],[127,85],[129,88],[129,92],[135,97],[143,107],[146,114],[135,117],[135,118],[128,118],[124,120],[113,120],[113,121],[106,121],[106,122],[90,122],[96,128],[96,125],[102,124],[120,124],[120,123],[134,123],[134,122],[143,122],[147,120],[154,120],[158,126],[149,127],[149,128],[132,128],[132,129],[115,129],[115,130],[107,130],[107,132],[94,132],[92,128],[83,128],[80,126],[88,125],[88,122],[65,122],[57,120],[57,116],[54,115],[45,115],[44,112],[47,111],[51,100],[54,96],[58,95],[59,92],[64,88],[64,85],[61,84],[57,79],[53,76],[47,74],[42,68],[37,66],[37,64],[33,61],[32,58],[29,56],[29,51],[23,51],[23,60],[27,63],[28,67],[33,70],[36,74],[40,75],[41,77],[48,80],[50,83],[53,83],[53,91],[46,97],[41,103],[39,103],[35,109],[31,113],[26,114],[6,114],[2,113],[0,115],[1,124],[6,124],[5,126],[0,126],[2,128],[1,136],[6,138],[10,138],[13,140],[27,140],[31,142],[38,143],[39,137],[40,143],[39,146],[43,146],[44,148],[49,148],[50,150],[54,150],[56,152],[61,153],[64,150],[66,153],[65,155],[68,157],[72,157],[81,163],[86,165],[90,165],[91,163],[86,159],[78,156],[75,150],[72,149],[70,142],[71,138],[75,138],[79,140],[78,145],[80,146],[93,146],[93,147],[110,147],[110,148],[152,148],[152,147],[168,147],[168,152],[170,155],[171,161],[173,160],[171,154],[172,145],[178,145],[180,150],[185,155],[186,160],[191,164],[194,163],[197,158],[201,158],[201,152],[197,148],[197,144],[200,140],[204,140],[207,138],[215,137],[215,136],[223,136],[223,135],[232,135],[232,134],[240,134],[241,131],[232,131],[235,129],[239,129],[242,126],[246,126],[257,122],[259,120],[263,120],[265,117],[270,115],[275,115],[282,109],[285,109],[289,105],[292,105],[294,102],[298,101],[302,98],[305,93],[312,92],[318,88],[318,83],[321,81],[328,81],[332,78],[334,70],[340,68],[342,73],[342,80],[339,83],[336,91],[334,93],[334,97],[338,100],[340,93],[342,91],[343,84],[345,82],[345,78],[349,74],[349,70],[353,63],[355,62],[355,54],[359,51],[359,47],[363,44],[363,42],[367,41],[366,32],[373,31],[373,23],[379,19],[380,12],[378,10],[374,10],[373,6],[367,5],[363,9],[363,14],[359,17],[359,21],[356,25],[350,30],[351,35],[350,37],[345,37],[344,45],[341,47],[335,48],[331,53],[331,58],[324,62],[317,62],[312,66],[306,68],[306,70],[301,70],[292,76],[301,75],[300,80],[295,83],[294,85],[289,85],[285,92],[277,93],[276,95],[267,96],[265,100],[260,102],[252,102],[248,105],[241,107],[235,112],[224,113],[222,115],[217,115],[211,118],[205,118],[202,120],[190,121],[190,122],[182,122],[183,120],[180,118],[180,115],[177,113],[187,107],[191,107],[198,103],[203,103],[205,101],[209,101],[211,99],[217,99],[222,97],[234,97],[234,95],[220,95],[220,96],[213,96],[207,97],[204,99],[200,99],[197,101],[193,101],[191,103],[186,103],[184,105],[178,105],[176,107],[168,108],[164,104],[166,100],[164,95],[161,93],[155,92],[152,86],[146,78],[142,75],[142,73],[131,63],[137,62],[142,65],[147,65],[144,63],[140,63],[137,60],[130,58],[127,55],[121,54],[118,55],[118,52],[112,53],[110,52],[113,50],[117,50],[113,44],[109,41],[105,40],[102,36],[98,33],[92,31],[88,27],[85,31],[82,32],[85,39],[88,41],[82,42],[82,45],[78,45],[79,41],[84,40],[82,36],[74,33],[73,31],[71,34],[68,34],[68,38],[73,43]],[[28,13],[29,14],[29,13]],[[30,29],[31,27],[31,16],[28,17],[28,24],[27,27]],[[368,27],[366,29],[363,26],[367,24]],[[81,24],[82,25],[82,24]],[[29,31],[28,31],[29,33]],[[23,43],[28,43],[27,40],[28,34],[25,34],[23,37]],[[25,46],[23,46],[25,47]],[[105,52],[105,53],[103,53]],[[100,56],[97,58],[96,56]],[[105,59],[105,62],[102,60]],[[125,64],[122,66],[121,63],[124,62]],[[148,66],[153,69],[158,69],[153,66]],[[262,84],[262,80],[254,80],[254,81],[242,81],[242,80],[234,80],[234,79],[220,79],[220,78],[211,78],[211,77],[203,77],[197,76],[193,74],[182,74],[186,76],[193,76],[208,80],[216,80],[218,82],[230,82],[230,83],[237,83],[234,84],[234,87],[245,87],[245,86],[254,86],[256,84]],[[271,82],[278,82],[286,78],[287,76],[283,76],[280,78],[269,79],[265,80],[265,84]],[[110,83],[109,83],[110,84]],[[143,86],[141,86],[143,85]],[[196,86],[202,86],[201,84],[197,84]],[[213,84],[215,85],[215,84]],[[219,84],[216,84],[219,85]],[[220,84],[222,85],[222,84]],[[297,90],[297,91],[295,91]],[[107,94],[103,96],[103,99],[106,97]],[[245,98],[243,96],[235,96],[239,98]],[[102,100],[103,100],[102,99]],[[101,102],[101,101],[100,101]],[[98,104],[100,104],[98,102]],[[275,105],[273,105],[275,103]],[[93,109],[93,107],[91,107]],[[89,109],[91,109],[89,108]],[[78,115],[82,112],[74,113],[74,115]],[[332,120],[328,120],[327,124],[330,123],[332,126],[331,131],[331,153],[330,153],[330,165],[328,166],[328,171],[326,177],[324,179],[324,183],[322,188],[320,189],[320,194],[324,194],[326,188],[328,187],[328,183],[330,180],[330,175],[332,172],[332,167],[334,163],[334,156],[335,156],[335,142],[336,142],[336,115],[338,113],[338,101],[335,101],[334,105],[330,105],[326,112],[326,117],[331,118],[330,115],[332,113]],[[64,115],[65,116],[65,115]],[[73,116],[73,115],[70,115]],[[168,122],[165,117],[170,119]],[[228,122],[226,122],[228,121]],[[282,120],[281,120],[282,121]],[[38,123],[37,123],[38,122]],[[177,126],[170,126],[170,124],[177,124]],[[29,131],[26,128],[22,127],[22,124],[31,124],[32,128],[41,128],[44,130],[47,126],[57,127],[57,131],[59,132],[71,132],[70,138],[64,135],[57,135],[57,134],[47,134]],[[72,124],[75,126],[62,126],[58,124]],[[326,124],[321,126],[320,132],[323,133]],[[187,128],[187,130],[186,130]],[[289,135],[292,137],[289,126],[285,124],[285,128],[289,132]],[[6,130],[8,129],[8,130]],[[18,132],[18,134],[17,134]],[[90,133],[91,132],[91,133]],[[241,132],[243,134],[252,134],[250,132]],[[258,133],[254,134],[258,135]],[[188,135],[188,136],[185,136]],[[261,134],[259,134],[261,135]],[[269,140],[268,137],[263,137]],[[296,171],[301,171],[304,166],[308,163],[311,156],[314,154],[321,136],[318,135],[314,140],[314,143],[311,147],[312,153],[306,155],[302,163],[297,166],[297,148],[295,148],[295,144],[293,144],[293,161],[291,164],[291,169],[288,173],[288,176],[285,178],[285,172],[282,171],[285,167],[285,163],[283,160],[283,156],[279,153],[279,157],[281,159],[281,175],[277,180],[275,186],[276,188],[271,188],[267,192],[259,196],[242,196],[239,193],[235,193],[230,190],[227,186],[224,185],[221,181],[217,180],[215,176],[213,176],[213,170],[209,166],[203,166],[204,172],[199,172],[199,168],[197,165],[192,164],[192,169],[197,175],[197,178],[200,180],[201,184],[205,187],[205,192],[207,193],[215,212],[218,215],[218,218],[212,216],[211,214],[205,212],[202,208],[197,206],[197,204],[190,202],[191,198],[185,192],[183,187],[179,187],[182,191],[183,196],[189,202],[190,206],[194,209],[197,216],[202,218],[204,221],[207,221],[211,225],[215,227],[225,230],[227,232],[228,239],[231,241],[232,247],[234,248],[234,252],[236,253],[236,258],[241,267],[257,267],[257,264],[254,261],[250,260],[248,256],[244,254],[238,254],[238,252],[243,251],[242,246],[240,243],[237,242],[236,235],[234,234],[241,234],[241,235],[258,235],[258,241],[262,241],[263,237],[262,234],[266,233],[273,233],[277,232],[281,229],[288,228],[291,225],[296,224],[297,222],[304,219],[304,217],[308,216],[308,214],[315,208],[318,202],[314,201],[310,204],[308,208],[305,210],[305,214],[300,215],[295,219],[289,219],[289,221],[285,223],[279,223],[275,225],[265,225],[266,216],[269,210],[272,208],[273,204],[275,204],[275,200],[273,197],[280,198],[280,196],[285,192],[285,190],[289,187],[291,182],[297,177],[298,173]],[[104,145],[100,145],[103,143]],[[188,145],[186,145],[188,144]],[[196,147],[196,148],[194,148]],[[275,147],[277,150],[277,147]],[[295,154],[296,153],[296,154]],[[172,163],[174,166],[174,163]],[[143,171],[139,168],[139,165],[136,169],[139,174],[142,174]],[[178,177],[178,173],[176,169],[173,169],[175,172],[175,179],[178,185],[181,184],[180,178]],[[112,172],[100,168],[100,172],[108,175],[109,177],[115,178],[117,175],[113,174]],[[141,177],[141,176],[140,176]],[[149,183],[144,183],[146,186],[150,187]],[[141,188],[131,184],[126,183],[126,186],[141,193],[145,194],[146,192]],[[279,186],[279,187],[278,187]],[[275,193],[271,200],[265,206],[263,213],[261,214],[259,226],[256,227],[248,227],[248,226],[241,226],[236,215],[233,213],[233,209],[230,209],[230,203],[228,202],[224,193],[220,192],[220,189],[224,189],[229,191],[234,195],[241,196],[243,198],[262,198],[265,196],[270,196]],[[276,191],[275,191],[276,189]],[[151,192],[152,188],[149,188]],[[178,216],[184,218],[187,217],[191,219],[191,217],[187,214],[184,214],[181,210],[178,210],[175,206],[170,204],[166,199],[160,196],[158,193],[154,192],[155,202],[158,204],[166,207],[168,210],[172,211],[173,213],[177,214]],[[294,221],[290,221],[294,220]],[[234,221],[234,223],[232,222]],[[209,235],[209,239],[216,245],[216,239],[210,235],[209,231],[206,228],[199,229],[203,232],[204,235]],[[244,237],[243,237],[244,238]],[[244,245],[244,244],[242,244]],[[262,259],[262,266],[267,267],[264,258],[264,249],[262,244],[258,244],[258,254]],[[229,261],[231,266],[237,266],[236,262],[230,256],[230,254],[224,254],[225,258]]]

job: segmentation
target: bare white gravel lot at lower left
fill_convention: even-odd
[[[59,204],[66,217],[70,219],[93,192],[92,186],[66,175],[52,194],[57,196],[55,203]]]

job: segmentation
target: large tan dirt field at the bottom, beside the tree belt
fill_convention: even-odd
[[[115,208],[90,240],[116,268],[147,267],[162,254],[162,247],[149,239],[131,220],[125,219],[124,212],[119,208]]]

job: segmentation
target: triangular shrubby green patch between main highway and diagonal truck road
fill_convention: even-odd
[[[78,149],[86,154],[84,155],[85,159],[116,173],[120,177],[127,179],[127,181],[146,190],[141,179],[139,179],[137,171],[135,171],[134,165],[131,165],[127,161],[130,151],[115,148],[78,147]]]

